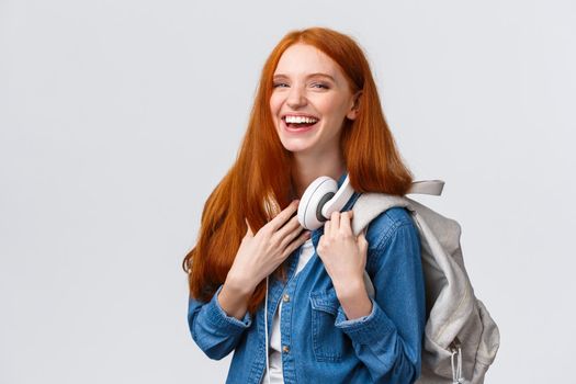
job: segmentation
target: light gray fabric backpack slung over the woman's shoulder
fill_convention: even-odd
[[[443,181],[414,182],[408,193],[440,195]],[[406,207],[420,235],[429,315],[422,346],[422,371],[417,384],[482,384],[493,363],[500,335],[464,268],[460,225],[406,196],[362,194],[353,206],[352,229],[360,234],[384,211]],[[374,287],[364,274],[369,294]]]

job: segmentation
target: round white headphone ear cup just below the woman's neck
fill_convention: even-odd
[[[327,217],[321,215],[321,208],[338,191],[336,180],[323,176],[308,185],[298,204],[298,222],[308,229],[321,227]]]

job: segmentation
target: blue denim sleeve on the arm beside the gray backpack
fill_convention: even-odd
[[[372,312],[349,320],[339,306],[335,326],[350,337],[374,383],[414,383],[421,370],[426,318],[420,241],[414,224],[396,222],[371,258],[376,291]]]

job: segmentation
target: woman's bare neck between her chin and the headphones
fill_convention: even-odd
[[[320,176],[338,180],[345,171],[345,159],[339,150],[323,155],[294,154],[292,177],[297,197],[302,197],[306,188]]]

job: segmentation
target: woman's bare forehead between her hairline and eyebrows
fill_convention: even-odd
[[[318,72],[329,75],[335,79],[343,78],[338,64],[328,55],[312,45],[298,43],[284,50],[274,75],[298,77]]]

